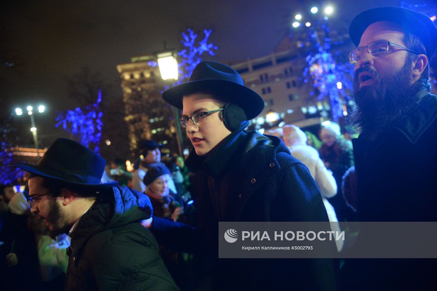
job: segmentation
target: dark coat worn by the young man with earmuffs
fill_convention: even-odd
[[[281,139],[242,130],[232,132],[206,159],[191,152],[187,164],[198,163],[192,185],[199,227],[154,218],[158,242],[200,254],[215,290],[336,290],[334,260],[218,259],[220,220],[328,221],[309,170],[291,157]],[[217,198],[225,196],[232,210],[227,215]]]

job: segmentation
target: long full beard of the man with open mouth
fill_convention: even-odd
[[[364,66],[354,73],[354,99],[357,108],[352,114],[353,124],[367,135],[377,136],[395,125],[415,104],[419,97],[417,86],[411,85],[411,64],[390,76],[382,77],[375,69]],[[358,74],[369,72],[376,82],[360,88]]]

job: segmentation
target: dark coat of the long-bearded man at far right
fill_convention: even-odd
[[[427,94],[374,141],[365,135],[352,140],[360,221],[437,221],[436,118],[437,97]],[[356,247],[366,247],[360,236],[372,234],[358,235]],[[344,277],[355,277],[362,290],[435,290],[436,266],[431,259],[355,260],[349,267],[359,269]]]

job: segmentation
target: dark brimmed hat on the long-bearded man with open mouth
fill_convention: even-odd
[[[349,36],[354,45],[358,47],[366,28],[377,21],[391,21],[402,25],[420,39],[428,59],[434,55],[437,48],[437,27],[434,22],[425,14],[401,7],[376,7],[355,16],[349,26]]]

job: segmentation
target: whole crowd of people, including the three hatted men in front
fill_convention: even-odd
[[[436,221],[437,97],[428,60],[437,28],[424,14],[378,7],[350,25],[357,46],[345,138],[284,125],[246,132],[264,100],[239,74],[200,62],[163,92],[194,149],[161,156],[144,140],[128,171],[57,139],[25,189],[0,188],[0,276],[5,290],[431,290],[435,260],[219,259],[218,222]],[[348,137],[349,135],[347,135]],[[340,254],[365,248],[336,241]],[[343,264],[344,263],[344,264]],[[291,288],[292,287],[292,288]]]

